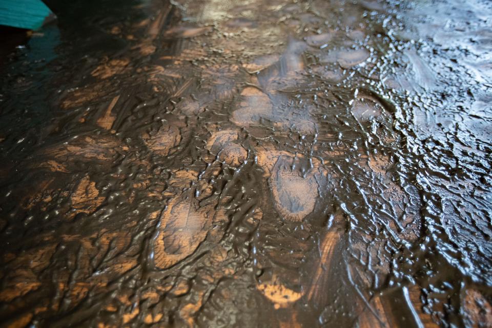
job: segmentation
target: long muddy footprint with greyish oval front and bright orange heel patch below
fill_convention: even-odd
[[[256,287],[275,309],[288,308],[304,295],[298,270],[314,246],[313,240],[306,238],[309,232],[289,232],[316,211],[324,172],[318,160],[309,163],[303,155],[277,151],[271,146],[257,147],[255,151],[264,179],[261,207],[266,216],[272,217],[263,218],[255,241],[258,265],[266,270]],[[267,195],[273,198],[273,204]],[[284,218],[285,226],[274,219],[278,215],[275,213]]]

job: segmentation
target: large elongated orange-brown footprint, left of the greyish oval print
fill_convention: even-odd
[[[228,217],[209,182],[220,172],[217,161],[200,174],[194,169],[173,171],[166,191],[171,199],[158,218],[154,236],[156,268],[170,269],[192,256],[205,240],[214,243],[223,236]]]

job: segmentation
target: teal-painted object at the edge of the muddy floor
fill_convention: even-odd
[[[0,0],[0,25],[37,30],[55,18],[41,0]]]

